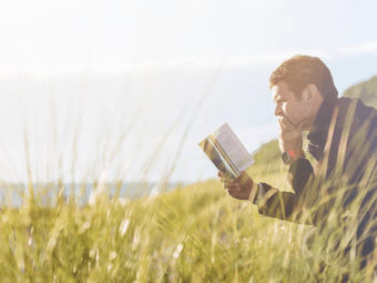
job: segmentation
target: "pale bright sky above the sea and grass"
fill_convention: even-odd
[[[377,74],[376,1],[8,1],[0,9],[0,180],[194,182],[227,122],[277,138],[269,74],[319,57],[339,95]],[[256,165],[256,164],[253,164]]]

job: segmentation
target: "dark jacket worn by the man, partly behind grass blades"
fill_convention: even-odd
[[[326,226],[333,208],[340,218],[347,210],[355,212],[357,200],[357,237],[364,239],[363,255],[370,253],[377,231],[376,186],[371,184],[377,176],[377,110],[359,99],[324,100],[307,139],[306,151],[316,159],[315,169],[307,159],[297,159],[289,166],[288,182],[294,193],[262,183],[265,198],[258,205],[259,213],[303,223],[307,211],[306,224]],[[336,205],[338,201],[340,205]]]

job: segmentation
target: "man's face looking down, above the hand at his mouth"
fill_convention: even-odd
[[[308,118],[308,111],[304,100],[297,101],[295,94],[288,90],[284,81],[273,87],[273,101],[275,102],[275,115],[285,117],[297,127]]]

